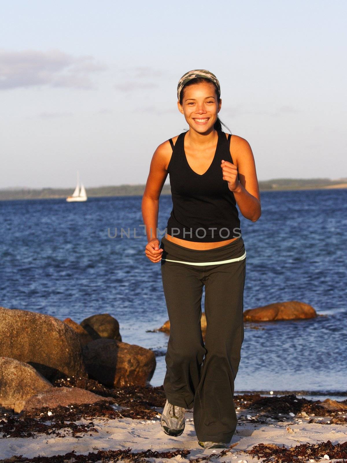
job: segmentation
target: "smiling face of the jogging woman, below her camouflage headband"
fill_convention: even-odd
[[[213,130],[221,105],[222,100],[218,102],[215,86],[207,81],[183,88],[182,104],[177,102],[189,127],[199,133]]]

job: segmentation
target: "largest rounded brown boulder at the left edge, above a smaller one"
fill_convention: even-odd
[[[29,363],[51,382],[87,377],[78,335],[50,315],[0,307],[0,355]]]

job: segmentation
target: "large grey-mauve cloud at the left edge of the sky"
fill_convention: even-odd
[[[0,90],[42,85],[95,88],[90,75],[106,69],[93,56],[71,56],[60,50],[0,50]]]

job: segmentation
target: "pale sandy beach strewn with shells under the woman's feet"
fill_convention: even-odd
[[[120,410],[122,407],[113,405],[115,409]],[[161,411],[161,410],[160,410]],[[159,412],[159,409],[158,409]],[[100,419],[91,420],[82,419],[76,421],[77,424],[87,424],[93,421],[94,428],[98,432],[85,432],[73,437],[71,430],[59,430],[65,437],[48,437],[46,434],[35,433],[31,438],[0,438],[0,458],[5,459],[14,455],[22,455],[26,458],[37,456],[51,457],[53,455],[64,455],[68,452],[75,451],[76,454],[88,455],[89,452],[98,450],[126,450],[128,448],[136,453],[145,450],[153,451],[173,451],[187,449],[190,451],[186,457],[180,455],[174,458],[148,458],[148,461],[172,461],[188,462],[198,457],[211,457],[209,461],[241,461],[241,462],[259,462],[262,459],[252,457],[245,453],[255,444],[276,444],[280,447],[285,445],[287,448],[298,444],[315,444],[320,442],[331,441],[332,444],[344,443],[347,441],[347,425],[341,424],[323,424],[329,421],[329,417],[322,417],[321,423],[308,423],[312,418],[302,416],[289,417],[285,416],[285,421],[268,421],[268,423],[256,423],[256,414],[254,410],[244,409],[238,411],[238,425],[232,438],[230,446],[232,447],[221,459],[218,458],[222,449],[204,450],[198,446],[194,425],[192,421],[192,410],[186,411],[186,428],[181,436],[173,438],[167,436],[161,429],[159,414],[155,420],[143,419]],[[315,419],[319,417],[315,416]],[[268,418],[269,419],[269,418]],[[47,424],[50,418],[47,417]],[[54,428],[54,426],[52,426]],[[308,460],[310,461],[310,460]],[[313,461],[313,460],[311,460]],[[316,460],[319,461],[319,460]],[[321,461],[327,461],[322,458]],[[330,459],[330,461],[341,461]]]

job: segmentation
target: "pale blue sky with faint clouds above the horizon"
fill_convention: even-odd
[[[188,129],[191,69],[217,75],[259,181],[347,177],[346,17],[345,0],[1,1],[0,188],[146,183]]]

